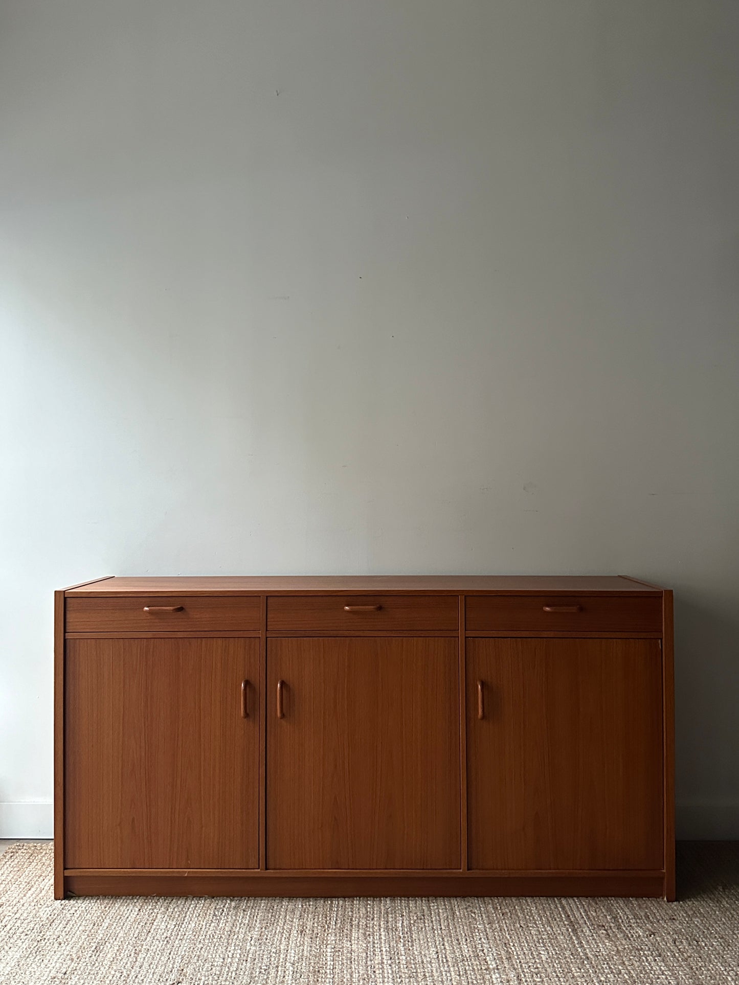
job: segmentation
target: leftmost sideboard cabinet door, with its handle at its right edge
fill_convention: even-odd
[[[258,683],[253,639],[68,640],[66,866],[257,868]]]

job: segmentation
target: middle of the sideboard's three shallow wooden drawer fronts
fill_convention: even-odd
[[[443,595],[272,596],[267,629],[272,632],[455,632],[459,600]]]

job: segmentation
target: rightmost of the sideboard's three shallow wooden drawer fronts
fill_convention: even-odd
[[[659,632],[658,596],[470,595],[466,600],[470,631]]]

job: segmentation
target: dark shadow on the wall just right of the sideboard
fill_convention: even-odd
[[[726,742],[739,725],[739,612],[727,618],[727,609],[675,591],[679,838],[739,838],[739,757]]]

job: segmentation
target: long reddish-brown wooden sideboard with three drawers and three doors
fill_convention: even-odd
[[[670,591],[110,577],[55,617],[57,898],[674,899]]]

